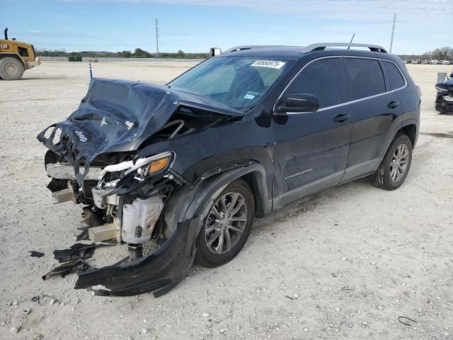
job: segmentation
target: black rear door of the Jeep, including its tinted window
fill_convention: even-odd
[[[384,78],[382,62],[343,57],[354,123],[343,181],[367,174],[379,166],[391,127],[396,120],[401,120],[403,108],[396,91]]]

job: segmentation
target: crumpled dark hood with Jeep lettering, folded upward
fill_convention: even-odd
[[[171,114],[186,106],[231,116],[243,113],[204,96],[139,81],[91,79],[79,108],[51,125],[38,140],[74,166],[79,184],[89,164],[104,152],[136,150]],[[85,166],[83,174],[79,164]]]

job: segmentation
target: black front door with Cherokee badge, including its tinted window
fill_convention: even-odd
[[[339,57],[306,64],[282,94],[312,94],[318,112],[275,116],[274,207],[334,186],[343,177],[352,129]]]

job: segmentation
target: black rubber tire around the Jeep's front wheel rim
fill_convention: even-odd
[[[228,195],[231,193],[239,193],[246,205],[246,211],[242,212],[243,215],[246,215],[246,221],[243,223],[243,232],[241,234],[236,234],[233,230],[229,230],[228,226],[224,227],[227,228],[226,232],[230,235],[230,232],[232,232],[233,235],[236,235],[236,243],[231,245],[231,249],[229,251],[224,252],[223,254],[214,254],[212,250],[210,250],[210,247],[207,245],[207,237],[209,235],[213,236],[214,232],[219,232],[219,230],[214,229],[212,231],[212,234],[208,233],[207,230],[212,229],[214,224],[222,225],[222,222],[214,222],[213,218],[214,216],[211,215],[212,209],[214,206],[217,206],[217,203],[222,200],[222,197],[226,197],[226,200],[228,199]],[[226,208],[229,208],[231,205],[231,200],[226,202]],[[239,198],[236,198],[236,207],[239,205]],[[219,203],[220,204],[220,203]],[[235,207],[233,206],[232,209]],[[251,188],[248,186],[246,181],[243,181],[242,179],[238,179],[236,181],[232,181],[229,183],[229,185],[222,191],[222,193],[219,194],[214,199],[214,203],[210,207],[210,212],[208,212],[207,217],[205,217],[205,220],[203,220],[202,227],[200,229],[200,234],[198,234],[197,237],[197,253],[195,255],[195,261],[199,263],[202,266],[205,267],[217,267],[217,266],[222,266],[223,264],[231,261],[231,259],[234,259],[234,257],[241,251],[243,248],[244,244],[246,244],[246,241],[248,239],[248,235],[251,232],[251,227],[253,225],[253,218],[255,216],[255,200],[253,199],[253,193],[251,191]],[[217,210],[216,210],[217,211]],[[234,215],[236,216],[236,215]],[[239,217],[238,217],[239,218]],[[217,221],[217,220],[216,220]],[[225,222],[226,223],[226,222]],[[231,222],[231,227],[235,227],[234,223],[236,222]],[[239,226],[240,222],[237,222],[237,226]],[[239,227],[235,227],[236,229],[239,229]],[[222,231],[220,231],[222,232]],[[224,233],[226,234],[224,231]],[[232,242],[234,236],[230,236],[230,243]],[[211,237],[210,239],[214,239],[214,237]],[[217,239],[217,245],[220,243],[220,237]],[[226,240],[226,237],[225,237]],[[224,236],[222,236],[222,245],[220,246],[220,249],[224,248]],[[214,246],[214,244],[211,244],[211,246]]]

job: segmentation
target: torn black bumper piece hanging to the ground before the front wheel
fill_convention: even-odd
[[[93,289],[96,295],[128,296],[151,292],[159,297],[167,293],[193,264],[197,222],[195,218],[178,223],[171,237],[148,256],[81,273],[74,288]]]

